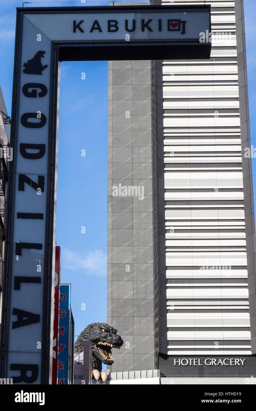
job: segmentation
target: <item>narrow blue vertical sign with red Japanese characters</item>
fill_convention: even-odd
[[[58,384],[68,384],[69,378],[69,302],[70,284],[60,284]]]

